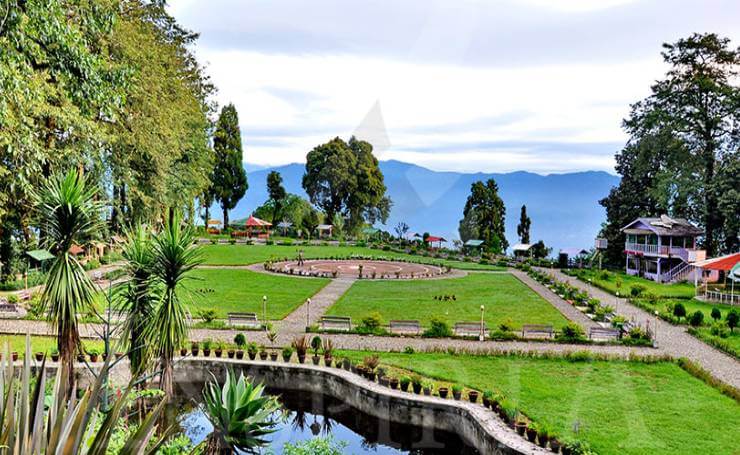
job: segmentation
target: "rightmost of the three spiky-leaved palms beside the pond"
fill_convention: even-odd
[[[152,239],[152,274],[162,286],[159,304],[147,325],[147,339],[161,363],[160,388],[172,396],[173,358],[188,339],[188,313],[181,301],[183,281],[202,262],[194,245],[195,231],[183,226],[179,212],[174,212],[161,232]]]

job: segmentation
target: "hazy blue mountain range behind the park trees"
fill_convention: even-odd
[[[430,232],[448,240],[457,239],[470,185],[494,178],[506,204],[506,237],[518,243],[516,225],[519,210],[527,205],[532,219],[532,241],[544,240],[557,252],[560,248],[590,248],[604,221],[599,199],[619,183],[619,177],[601,171],[539,175],[530,172],[505,174],[437,172],[400,161],[381,161],[388,194],[393,200],[385,230],[405,221],[412,232]],[[295,163],[248,172],[249,190],[230,212],[231,219],[248,216],[267,200],[267,174],[276,170],[283,177],[285,189],[306,196],[301,187],[304,165]],[[214,215],[220,209],[213,207]]]

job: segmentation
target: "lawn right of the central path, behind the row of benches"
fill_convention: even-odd
[[[454,295],[456,300],[435,300],[438,295]],[[490,328],[507,318],[515,327],[553,324],[559,328],[567,323],[559,311],[513,275],[489,273],[439,280],[357,281],[328,314],[350,316],[359,323],[377,311],[386,323],[391,319],[418,319],[426,326],[432,317],[438,317],[452,325],[480,321],[481,305],[485,306]]]

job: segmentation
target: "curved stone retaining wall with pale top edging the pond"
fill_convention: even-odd
[[[235,367],[268,386],[328,394],[372,416],[457,433],[482,454],[551,453],[510,429],[492,411],[466,401],[415,395],[383,387],[349,371],[280,361],[179,359],[175,383],[179,387],[202,384]]]

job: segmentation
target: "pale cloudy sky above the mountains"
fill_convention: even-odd
[[[436,170],[613,172],[661,43],[740,45],[738,0],[171,0],[240,116],[244,161],[351,134]]]

